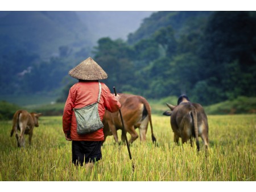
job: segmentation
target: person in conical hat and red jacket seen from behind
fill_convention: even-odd
[[[121,107],[120,96],[111,94],[108,86],[99,82],[108,78],[108,74],[91,57],[71,69],[69,75],[77,78],[79,82],[69,89],[63,112],[63,131],[66,140],[72,141],[73,164],[82,166],[85,162],[85,167],[92,169],[94,162],[102,157],[102,119],[105,109],[110,112],[118,111]],[[88,105],[89,111],[85,107]],[[90,106],[94,106],[94,110]]]

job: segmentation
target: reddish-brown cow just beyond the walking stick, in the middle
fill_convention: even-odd
[[[123,123],[125,124],[125,134],[129,132],[131,135],[129,144],[133,143],[133,141],[138,138],[138,133],[135,131],[135,128],[139,128],[141,141],[146,140],[148,122],[150,122],[152,141],[153,143],[156,142],[152,127],[151,108],[147,100],[139,95],[123,93],[119,95],[121,96],[119,102],[121,103]],[[122,130],[119,111],[111,113],[106,110],[102,122],[104,124],[105,140],[108,135],[113,135],[115,142],[118,143],[117,130]],[[125,141],[123,136],[122,141]]]

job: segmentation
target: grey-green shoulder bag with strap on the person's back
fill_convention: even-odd
[[[104,127],[101,122],[100,115],[98,114],[98,102],[101,97],[101,83],[98,82],[98,84],[100,86],[100,91],[98,93],[98,101],[96,103],[82,108],[73,108],[76,115],[77,133],[79,135],[92,133]]]

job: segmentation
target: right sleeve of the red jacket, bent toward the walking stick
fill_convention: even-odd
[[[109,87],[107,87],[106,85],[104,86],[104,103],[105,103],[105,108],[106,110],[110,111],[110,112],[115,112],[118,111],[119,108],[121,107],[121,103],[119,103],[119,101],[117,101],[115,99],[114,94],[110,93]]]

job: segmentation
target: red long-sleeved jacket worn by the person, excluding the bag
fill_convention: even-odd
[[[102,141],[104,140],[103,128],[93,133],[84,135],[77,134],[76,116],[73,108],[81,108],[97,102],[99,85],[98,81],[78,82],[69,90],[68,98],[63,112],[63,131],[71,133],[74,141]],[[121,107],[108,86],[101,82],[101,97],[98,103],[98,113],[101,120],[104,117],[105,109],[110,112],[118,111]]]

